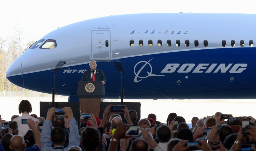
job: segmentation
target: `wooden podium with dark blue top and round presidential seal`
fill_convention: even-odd
[[[100,103],[105,96],[102,81],[78,81],[77,96],[80,102],[80,113],[100,114]]]

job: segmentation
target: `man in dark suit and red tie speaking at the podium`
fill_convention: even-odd
[[[81,81],[102,81],[102,85],[106,83],[106,77],[102,70],[97,69],[96,61],[92,60],[89,62],[91,70],[86,70],[83,72],[83,77]]]

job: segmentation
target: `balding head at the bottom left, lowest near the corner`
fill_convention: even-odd
[[[11,145],[9,146],[13,151],[25,150],[27,144],[25,143],[24,138],[21,135],[14,135],[11,137]]]

